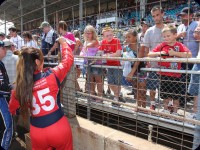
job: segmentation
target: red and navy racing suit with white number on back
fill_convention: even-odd
[[[71,48],[62,45],[62,61],[54,67],[34,74],[33,100],[30,118],[30,137],[33,150],[71,150],[71,128],[58,107],[59,84],[73,64]],[[12,92],[9,109],[12,114],[20,107]]]

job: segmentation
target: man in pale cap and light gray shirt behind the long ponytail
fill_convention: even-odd
[[[8,39],[5,39],[3,42],[6,49],[6,56],[2,59],[2,62],[4,63],[7,70],[10,83],[13,84],[16,76],[18,56],[13,54],[13,50],[11,48],[13,46],[12,42],[10,42]]]

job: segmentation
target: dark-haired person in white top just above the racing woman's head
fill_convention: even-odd
[[[33,40],[32,34],[28,31],[23,33],[24,46],[38,48],[37,42]]]

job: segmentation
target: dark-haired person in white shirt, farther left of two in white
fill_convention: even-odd
[[[10,41],[16,45],[17,50],[20,50],[22,46],[24,46],[24,40],[17,35],[17,29],[16,27],[10,27],[9,29],[10,32]]]

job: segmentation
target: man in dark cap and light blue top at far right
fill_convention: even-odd
[[[196,41],[196,37],[194,34],[195,29],[198,26],[197,21],[193,21],[193,10],[190,7],[185,7],[180,12],[180,17],[182,20],[182,24],[178,26],[177,29],[177,38],[186,46],[192,53],[192,57],[196,58],[198,51],[199,51],[199,43]],[[191,63],[182,63],[182,68],[191,70],[193,68],[193,64]],[[190,76],[186,74],[181,75],[181,94],[185,95],[186,89],[186,82],[190,82]],[[189,100],[189,99],[187,99]],[[182,107],[185,106],[185,97],[180,98],[180,105]]]

